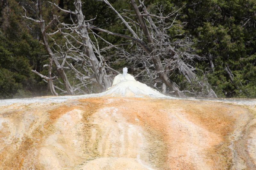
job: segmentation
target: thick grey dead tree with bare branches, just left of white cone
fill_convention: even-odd
[[[51,3],[52,4],[52,3]],[[59,23],[58,31],[65,37],[67,53],[70,55],[68,58],[78,63],[82,66],[86,75],[78,71],[72,64],[66,63],[73,69],[76,73],[76,78],[78,78],[83,85],[90,83],[90,81],[96,83],[101,91],[105,91],[112,84],[112,71],[108,67],[104,57],[100,54],[100,49],[96,42],[93,43],[88,33],[88,21],[85,21],[85,16],[82,12],[81,0],[75,0],[75,11],[68,11],[61,9],[57,4],[53,5],[63,12],[69,13],[76,16],[76,21],[73,24]],[[68,32],[67,32],[68,31]],[[95,45],[96,44],[96,45]],[[83,63],[83,64],[82,64]],[[106,68],[109,69],[107,73]]]

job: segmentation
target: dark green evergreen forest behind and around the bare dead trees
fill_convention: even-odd
[[[45,20],[50,21],[53,7],[48,1],[43,2],[43,16]],[[74,10],[74,1],[51,2],[55,2],[60,8]],[[109,3],[119,13],[123,13],[124,9],[132,11],[128,0],[109,0]],[[186,38],[191,40],[193,53],[203,57],[194,61],[193,71],[201,82],[207,80],[207,85],[211,86],[218,97],[256,98],[256,0],[146,0],[144,3],[148,9],[152,8],[151,11],[160,6],[166,15],[179,9],[179,15],[175,18],[177,24],[167,32],[171,37],[170,41]],[[1,99],[52,95],[48,84],[31,71],[36,70],[42,75],[47,75],[48,68],[44,66],[49,63],[49,56],[42,43],[40,27],[22,17],[25,13],[22,6],[28,10],[29,4],[31,0],[0,1]],[[107,4],[94,0],[82,0],[82,4],[85,19],[95,18],[90,21],[94,26],[116,33],[127,31]],[[33,11],[28,12],[33,16]],[[60,16],[61,22],[70,22],[68,13],[61,10],[54,12]],[[57,23],[51,26],[51,32],[57,30],[56,25]],[[97,31],[95,33],[114,45],[126,42],[121,37],[107,36]],[[53,38],[58,42],[63,41],[63,36],[58,34],[53,35]],[[50,47],[53,47],[54,41],[51,38],[48,41]],[[99,45],[104,48],[103,43],[99,42]],[[119,72],[122,72],[123,67],[128,67],[128,73],[135,76],[144,69],[139,66],[134,68],[131,61],[118,58],[115,49],[109,49],[102,55],[108,58],[107,62],[111,63],[111,68]],[[76,75],[68,69],[66,74],[70,84],[75,86]],[[54,66],[52,75],[58,76]],[[179,90],[186,96],[207,97],[203,95],[203,87],[188,82],[184,75],[177,72],[170,74],[169,78],[176,82]],[[146,72],[137,79],[159,91],[163,90],[162,83],[157,79],[149,80]],[[62,88],[61,81],[54,82]],[[93,84],[87,86],[87,89],[91,89],[90,92],[100,92],[99,89],[93,88]],[[56,91],[62,94],[62,91]],[[84,93],[90,92],[84,90]],[[165,93],[175,95],[168,87]]]

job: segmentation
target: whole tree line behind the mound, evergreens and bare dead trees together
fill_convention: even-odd
[[[105,91],[123,67],[172,96],[256,97],[256,1],[0,2],[0,97]]]

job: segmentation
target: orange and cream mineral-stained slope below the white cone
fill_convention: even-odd
[[[255,107],[91,97],[0,107],[0,169],[256,169]]]

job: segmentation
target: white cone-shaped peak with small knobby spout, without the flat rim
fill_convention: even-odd
[[[103,92],[102,95],[115,97],[167,97],[157,90],[136,81],[127,71],[127,68],[124,67],[123,74],[118,74],[113,80],[112,87]]]

